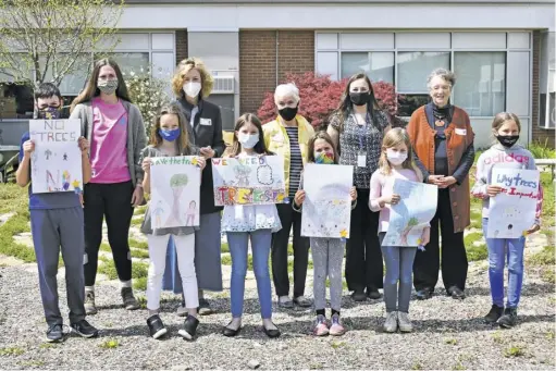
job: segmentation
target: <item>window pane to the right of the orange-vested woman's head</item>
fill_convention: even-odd
[[[455,104],[470,116],[493,116],[505,110],[505,51],[455,52],[454,70],[458,77]]]

